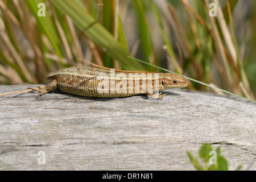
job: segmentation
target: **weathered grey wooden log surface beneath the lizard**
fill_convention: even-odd
[[[0,86],[0,93],[35,85]],[[0,97],[2,170],[193,170],[186,150],[221,145],[229,169],[256,170],[256,105],[239,98],[165,91],[88,98],[55,91]],[[38,152],[46,164],[38,164]]]

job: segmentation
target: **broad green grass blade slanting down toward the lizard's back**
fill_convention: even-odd
[[[53,3],[63,13],[69,15],[74,24],[100,46],[103,51],[106,51],[113,59],[119,61],[124,69],[145,70],[142,64],[136,63],[135,61],[130,63],[131,60],[127,58],[129,52],[77,3],[70,0],[55,0]]]

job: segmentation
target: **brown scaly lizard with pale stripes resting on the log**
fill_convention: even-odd
[[[39,91],[37,98],[49,93],[51,89],[58,88],[62,92],[85,97],[128,97],[146,93],[150,98],[162,100],[162,97],[166,96],[166,94],[159,92],[154,94],[154,90],[183,88],[188,83],[186,78],[174,73],[148,72],[147,77],[145,77],[146,73],[117,71],[104,67],[70,67],[49,73],[47,75],[49,84],[46,87],[38,86],[37,88],[28,89]],[[102,91],[102,85],[105,90],[104,92],[99,92],[99,90]],[[131,86],[131,89],[129,86]]]

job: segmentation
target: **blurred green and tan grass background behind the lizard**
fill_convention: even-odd
[[[39,3],[45,5],[38,6]],[[218,6],[209,16],[210,3]],[[1,0],[0,84],[88,66],[159,70],[255,99],[255,0]],[[190,82],[189,89],[217,92]]]

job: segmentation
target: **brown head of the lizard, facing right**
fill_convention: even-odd
[[[163,86],[163,89],[171,88],[183,88],[187,86],[187,79],[177,74],[164,73],[164,76],[159,75],[159,85]]]

